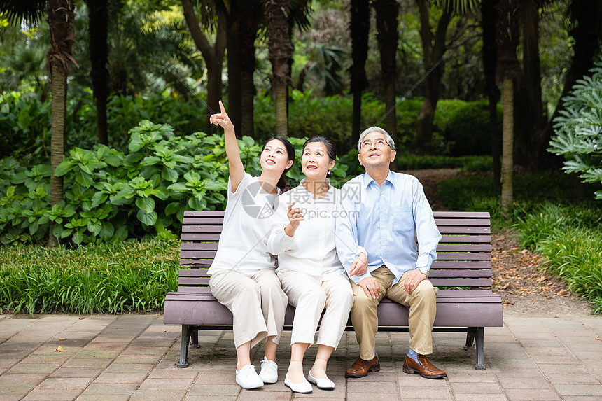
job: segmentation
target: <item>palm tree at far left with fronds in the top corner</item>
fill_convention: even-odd
[[[48,50],[48,71],[52,94],[52,136],[50,139],[50,194],[52,205],[63,199],[63,178],[55,176],[55,169],[63,161],[66,122],[66,93],[69,66],[76,64],[71,48],[75,41],[73,20],[75,2],[73,0],[8,1],[0,0],[0,11],[6,12],[13,22],[34,23],[44,10],[48,13],[50,26],[50,50]],[[56,246],[57,239],[50,231],[48,246]]]

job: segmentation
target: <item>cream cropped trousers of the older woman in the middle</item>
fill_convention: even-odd
[[[288,295],[288,302],[295,307],[293,335],[290,344],[314,344],[318,330],[318,344],[337,348],[353,304],[353,293],[346,274],[319,281],[302,272],[278,272],[282,289]]]

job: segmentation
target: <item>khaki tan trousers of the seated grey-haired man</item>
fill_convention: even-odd
[[[377,307],[379,302],[387,297],[409,307],[409,347],[422,355],[433,353],[433,322],[437,304],[437,288],[430,281],[423,280],[412,294],[405,292],[406,273],[395,286],[391,287],[395,276],[387,267],[379,267],[370,272],[379,282],[379,296],[376,300],[368,297],[361,286],[351,281],[353,289],[353,307],[351,308],[351,323],[356,330],[356,338],[360,344],[360,358],[374,358],[374,337],[378,331]]]

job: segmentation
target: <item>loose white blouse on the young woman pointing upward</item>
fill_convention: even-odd
[[[207,274],[233,269],[251,275],[260,269],[276,268],[276,258],[267,251],[275,200],[276,195],[263,190],[258,177],[245,173],[236,192],[232,192],[228,178],[223,230]]]

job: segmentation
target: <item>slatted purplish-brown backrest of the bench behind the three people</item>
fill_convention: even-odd
[[[491,293],[491,223],[487,212],[435,211],[442,234],[430,281],[440,295]],[[209,285],[207,269],[216,255],[223,211],[186,211],[178,290],[194,292]]]

